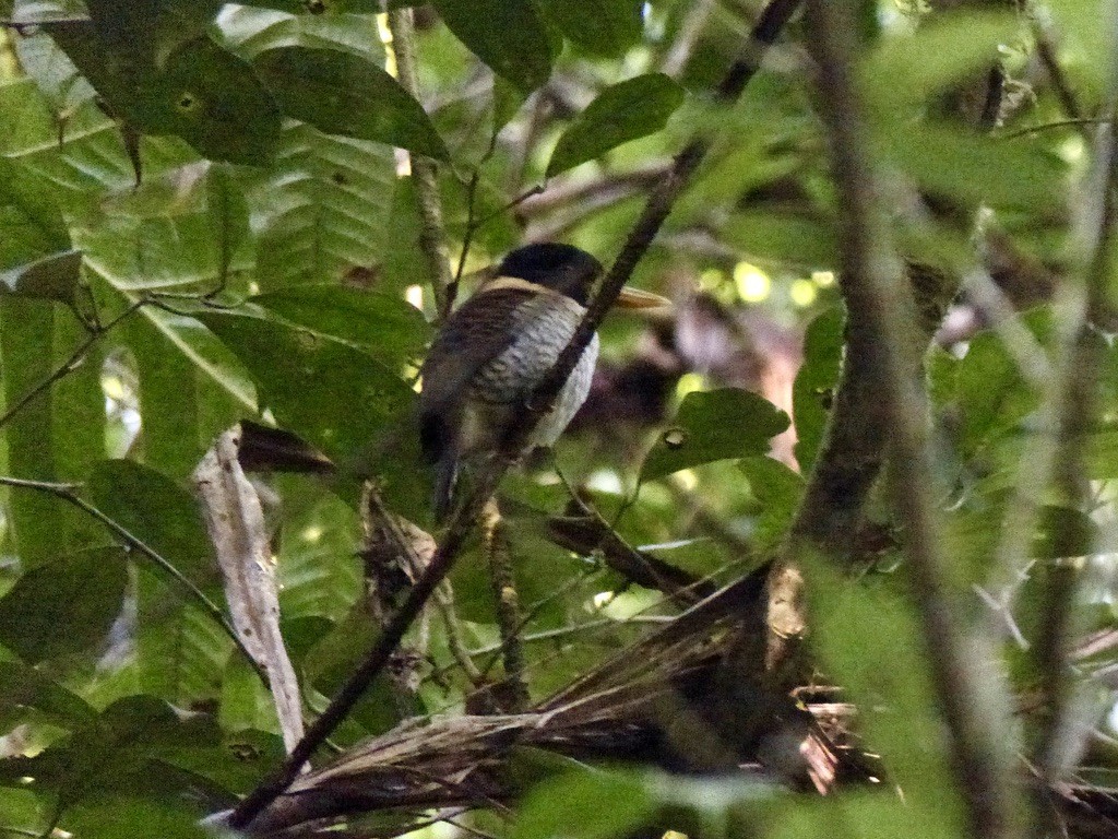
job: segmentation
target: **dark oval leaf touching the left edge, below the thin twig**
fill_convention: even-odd
[[[0,642],[31,664],[88,650],[120,614],[127,581],[116,547],[31,568],[0,597]]]

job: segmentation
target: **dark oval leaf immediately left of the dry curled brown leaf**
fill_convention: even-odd
[[[177,571],[197,584],[216,582],[217,560],[198,502],[165,474],[127,460],[106,460],[94,469],[87,490],[97,509]]]

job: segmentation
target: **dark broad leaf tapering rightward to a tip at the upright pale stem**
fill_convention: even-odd
[[[258,54],[253,67],[287,116],[328,134],[449,158],[423,106],[367,59],[334,49],[282,47]]]

